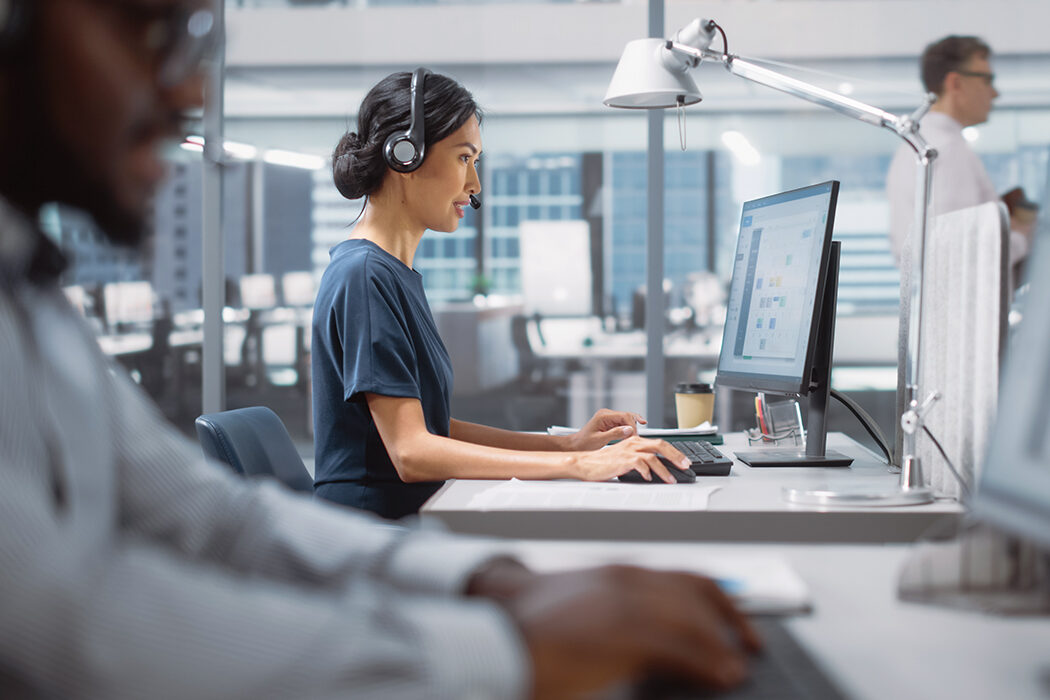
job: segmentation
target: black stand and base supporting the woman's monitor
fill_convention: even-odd
[[[827,256],[827,275],[820,302],[817,325],[817,346],[814,348],[813,376],[807,394],[810,429],[805,433],[805,449],[766,448],[734,452],[736,459],[751,467],[848,467],[853,458],[826,449],[827,396],[832,386],[832,352],[835,339],[835,305],[839,296],[839,254],[842,243],[832,241]]]

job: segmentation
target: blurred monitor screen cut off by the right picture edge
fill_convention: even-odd
[[[974,514],[1050,551],[1050,241],[1029,259],[1031,288],[1010,352]]]

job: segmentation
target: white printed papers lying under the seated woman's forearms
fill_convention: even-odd
[[[707,510],[718,486],[511,479],[470,500],[475,510]]]

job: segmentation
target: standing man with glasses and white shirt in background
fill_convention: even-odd
[[[930,196],[932,216],[999,199],[980,156],[963,136],[965,127],[988,121],[992,102],[999,97],[990,58],[988,44],[976,37],[945,37],[923,51],[922,82],[928,92],[937,94],[920,127],[938,152]],[[917,169],[911,149],[901,146],[886,178],[889,246],[898,264],[915,220]],[[1027,253],[1027,238],[1011,234],[1010,262]]]

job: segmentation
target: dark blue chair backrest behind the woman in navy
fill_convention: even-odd
[[[314,490],[285,424],[266,406],[205,413],[196,420],[196,431],[204,453],[238,474],[274,476],[296,491]]]

